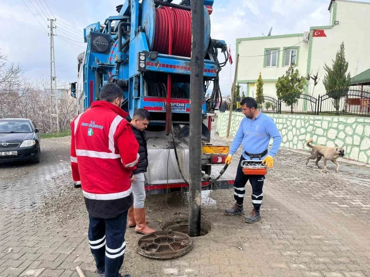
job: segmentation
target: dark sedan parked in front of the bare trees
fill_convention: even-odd
[[[0,119],[0,162],[40,162],[40,133],[29,119]]]

